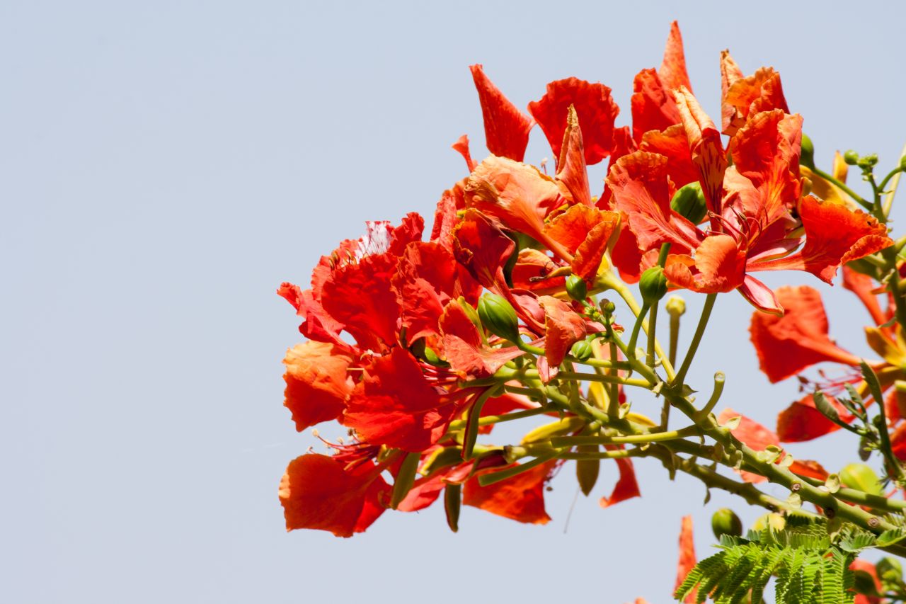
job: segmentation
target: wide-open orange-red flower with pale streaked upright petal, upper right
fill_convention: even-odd
[[[667,156],[636,151],[622,157],[612,166],[607,185],[615,207],[627,215],[640,270],[653,262],[661,244],[670,243],[665,274],[674,286],[702,293],[738,289],[757,308],[780,313],[770,289],[749,273],[788,268],[829,281],[844,262],[891,245],[884,227],[861,211],[814,198],[800,201],[798,115],[780,109],[747,114],[746,124],[730,141],[733,165],[728,168],[720,134],[699,103],[685,88],[676,91],[675,99],[708,204],[710,229],[702,232],[670,209],[675,183],[668,178]],[[676,148],[666,141],[662,146],[665,152]],[[688,165],[676,155],[670,161]],[[685,174],[680,178],[688,178]],[[794,209],[806,237],[805,246],[791,255],[802,243],[795,235]],[[621,268],[631,251],[623,248]]]

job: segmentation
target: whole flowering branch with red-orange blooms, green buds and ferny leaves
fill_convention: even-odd
[[[464,504],[543,524],[558,469],[573,465],[588,495],[601,464],[616,464],[607,507],[639,496],[634,463],[648,459],[766,510],[745,536],[718,511],[720,550],[699,563],[683,522],[678,599],[759,602],[772,577],[778,601],[906,599],[894,557],[857,560],[868,548],[906,553],[906,238],[887,226],[906,162],[879,176],[876,156],[847,151],[822,170],[779,74],[746,76],[726,51],[720,67],[719,129],[691,92],[675,23],[660,68],[635,78],[631,126],[615,125],[601,83],[549,83],[526,115],[471,67],[490,155],[473,161],[465,135],[453,145],[467,176],[444,191],[430,232],[416,213],[369,222],[320,259],[311,287],[278,290],[307,338],[284,359],[296,428],[338,421],[351,436],[289,464],[288,530],[350,537],[384,511],[439,500],[452,531]],[[535,124],[553,174],[524,162]],[[587,167],[604,160],[593,195]],[[853,166],[866,197],[846,184]],[[880,360],[834,344],[818,292],[772,291],[757,278],[767,270],[826,283],[842,273]],[[705,297],[684,351],[681,290]],[[762,371],[798,376],[805,391],[776,433],[718,412],[719,371],[710,385],[687,379],[719,295],[733,291],[755,307]],[[843,377],[803,374],[822,362]],[[639,397],[660,399],[660,416],[633,411]],[[524,437],[491,443],[508,422]],[[837,430],[861,458],[838,472],[781,446]]]

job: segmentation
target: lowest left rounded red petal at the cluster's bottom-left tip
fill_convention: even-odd
[[[378,519],[390,502],[390,486],[381,467],[361,463],[352,468],[326,455],[296,457],[280,481],[280,503],[286,530],[318,529],[352,537]]]

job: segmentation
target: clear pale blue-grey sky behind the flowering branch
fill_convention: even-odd
[[[782,73],[819,162],[853,147],[889,167],[906,140],[902,6],[0,3],[0,600],[671,601],[680,517],[708,555],[729,500],[702,507],[699,483],[651,462],[643,497],[608,510],[605,467],[565,532],[569,466],[543,527],[466,508],[454,535],[438,507],[350,540],[287,534],[277,483],[313,439],[282,406],[300,336],[275,287],[307,282],[366,219],[429,214],[464,176],[460,134],[484,156],[470,63],[520,107],[551,80],[600,80],[624,124],[674,18],[712,116],[729,47],[746,73]],[[526,160],[549,154],[535,129]],[[865,353],[850,294],[770,279],[785,282],[834,294],[834,336]],[[721,297],[692,383],[725,371],[724,402],[773,426],[796,386],[757,372],[749,315]],[[792,449],[835,470],[855,446]]]

